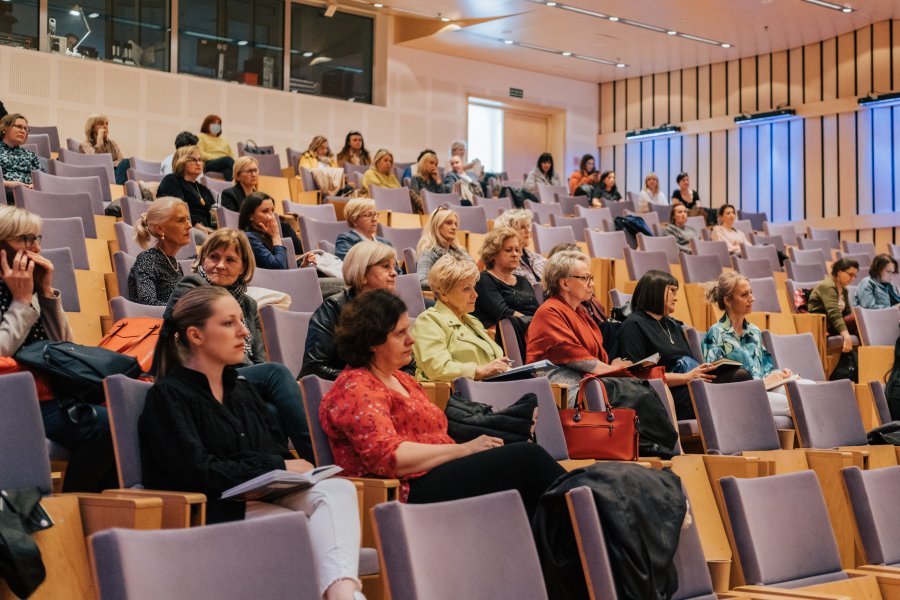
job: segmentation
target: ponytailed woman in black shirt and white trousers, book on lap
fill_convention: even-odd
[[[144,483],[205,494],[207,523],[303,511],[320,594],[358,599],[360,526],[352,483],[326,479],[270,502],[219,499],[275,469],[313,468],[293,458],[255,386],[229,366],[244,357],[243,319],[234,297],[218,286],[187,291],[170,311],[164,327],[173,335],[159,342],[157,379],[139,421]]]

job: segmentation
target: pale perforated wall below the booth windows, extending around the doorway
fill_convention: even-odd
[[[572,157],[596,152],[594,84],[399,46],[388,49],[387,71],[382,107],[0,46],[0,99],[33,125],[55,123],[63,145],[83,138],[88,115],[104,112],[122,151],[147,160],[169,154],[179,131],[197,131],[216,113],[232,144],[274,144],[282,161],[285,147],[305,149],[316,134],[340,148],[350,129],[363,132],[370,151],[384,146],[405,161],[424,147],[443,156],[465,137],[467,94],[504,98],[518,87],[528,103],[566,110],[567,171]]]

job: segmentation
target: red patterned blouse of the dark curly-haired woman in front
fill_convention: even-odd
[[[413,377],[394,376],[409,398],[388,388],[368,369],[347,367],[322,399],[319,420],[328,436],[334,464],[351,477],[397,477],[397,447],[403,442],[454,444],[447,435],[447,417],[432,404]],[[425,472],[404,475],[400,501],[409,496],[407,480]]]

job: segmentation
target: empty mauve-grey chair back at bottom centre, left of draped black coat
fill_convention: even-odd
[[[547,598],[514,490],[432,504],[388,502],[374,513],[393,598]]]

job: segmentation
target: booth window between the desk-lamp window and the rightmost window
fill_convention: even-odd
[[[182,0],[178,71],[282,87],[284,0]]]

